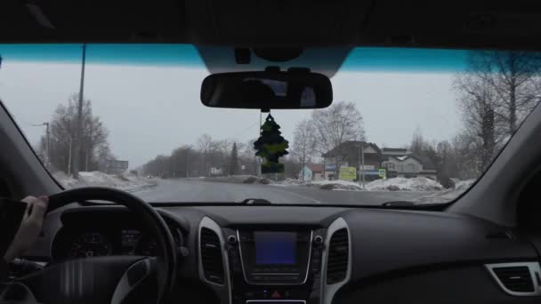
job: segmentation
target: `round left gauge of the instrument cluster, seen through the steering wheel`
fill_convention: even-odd
[[[77,240],[69,248],[69,257],[72,259],[89,258],[109,255],[112,245],[107,237],[99,232],[86,232],[78,236]]]

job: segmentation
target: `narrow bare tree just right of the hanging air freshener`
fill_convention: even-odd
[[[301,170],[304,165],[311,161],[316,148],[316,138],[311,120],[304,119],[295,125],[295,133],[293,147],[291,149],[292,156],[301,164]],[[304,180],[304,174],[301,174],[301,179]]]

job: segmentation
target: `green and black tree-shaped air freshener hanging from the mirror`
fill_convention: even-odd
[[[279,129],[279,124],[276,124],[274,117],[269,114],[261,126],[259,139],[254,142],[257,151],[255,155],[265,159],[261,165],[263,174],[284,172],[284,164],[280,164],[278,159],[289,154],[286,150],[289,148],[289,142],[280,135],[282,132]]]

